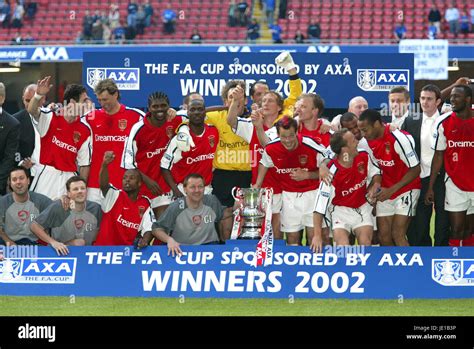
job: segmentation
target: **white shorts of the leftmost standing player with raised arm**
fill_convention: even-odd
[[[35,178],[31,183],[31,191],[43,194],[51,200],[58,200],[66,195],[66,182],[75,172],[64,172],[48,165],[42,165],[36,170]]]

